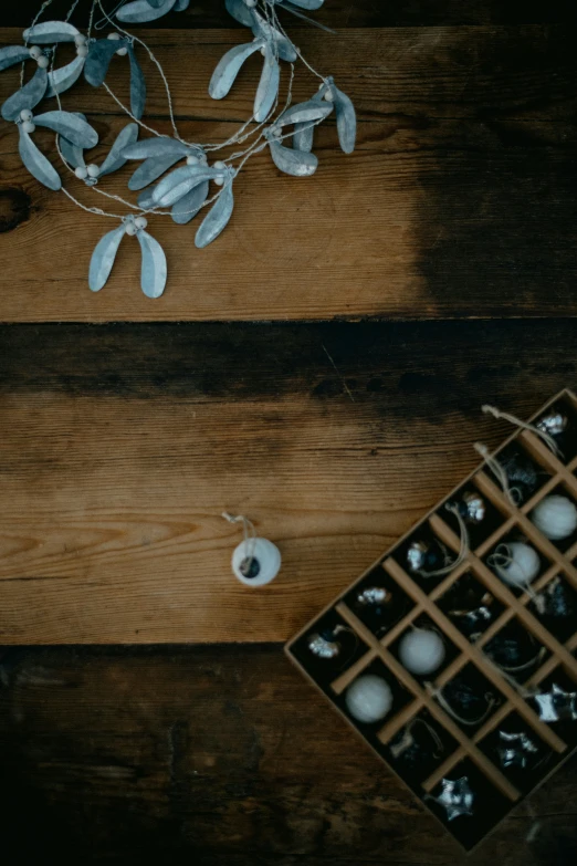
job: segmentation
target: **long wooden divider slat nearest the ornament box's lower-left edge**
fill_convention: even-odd
[[[336,611],[343,617],[343,619],[346,619],[352,628],[358,632],[358,634],[367,644],[373,646],[373,648],[380,656],[381,661],[384,661],[389,670],[395,674],[399,682],[401,682],[406,689],[422,699],[431,716],[437,718],[437,720],[441,722],[441,724],[445,728],[445,730],[449,731],[453,739],[457,740],[463,747],[463,749],[465,749],[471,760],[474,761],[478,766],[480,766],[484,774],[491,779],[493,784],[495,784],[496,787],[499,787],[500,791],[502,791],[502,793],[511,801],[517,801],[521,796],[521,793],[517,791],[517,789],[512,785],[508,779],[504,776],[500,770],[497,770],[497,768],[489,760],[489,758],[486,758],[481,752],[481,750],[478,749],[468,737],[465,737],[461,729],[458,728],[458,726],[437,703],[437,701],[419,686],[413,677],[411,677],[407,668],[405,668],[400,661],[397,661],[395,656],[389,653],[388,649],[379,644],[373,632],[370,632],[366,625],[361,623],[357,616],[355,616],[353,611],[350,611],[344,603],[338,604]],[[380,740],[381,737],[378,737]]]

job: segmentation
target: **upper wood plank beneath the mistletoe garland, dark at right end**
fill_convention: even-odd
[[[216,103],[204,94],[218,58],[242,34],[169,30],[147,38],[175,84],[182,134],[230,134],[250,112],[256,67],[230,98]],[[0,255],[19,279],[4,280],[0,320],[575,315],[577,60],[567,28],[360,29],[332,39],[303,31],[300,42],[355,100],[357,153],[345,157],[328,124],[312,179],[281,176],[267,155],[256,157],[235,184],[228,231],[204,251],[183,242],[193,226],[153,220],[169,268],[166,295],[155,302],[140,293],[129,239],[108,285],[88,292],[90,255],[112,221],[80,216],[64,196],[42,189],[4,125]],[[113,82],[124,94],[126,64],[116,60]],[[15,76],[2,74],[2,94]],[[168,132],[161,87],[148,77],[148,109]],[[296,98],[310,87],[305,77]],[[106,149],[122,123],[109,114],[109,98],[82,85],[64,104],[96,112]],[[36,137],[52,149],[50,133]],[[124,191],[130,170],[106,188]],[[69,182],[94,204],[95,194]],[[46,257],[46,248],[57,254]]]

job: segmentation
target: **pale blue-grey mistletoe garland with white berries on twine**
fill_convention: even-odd
[[[321,75],[307,63],[287,36],[276,11],[290,11],[310,21],[305,12],[319,9],[324,0],[225,0],[229,13],[239,23],[250,28],[252,40],[235,45],[219,61],[209,83],[210,96],[213,100],[225,98],[244,63],[258,53],[262,55],[262,72],[252,116],[229,140],[204,146],[180,137],[168,82],[147,44],[120,28],[105,38],[95,38],[93,33],[102,27],[114,25],[111,18],[113,13],[108,14],[104,10],[103,0],[91,0],[87,33],[82,33],[70,22],[78,1],[75,0],[64,21],[39,23],[40,13],[52,2],[45,0],[36,19],[23,33],[23,45],[0,49],[0,71],[17,64],[21,64],[22,69],[20,87],[6,100],[0,114],[4,121],[15,124],[20,157],[39,182],[49,189],[61,190],[87,212],[119,220],[120,225],[107,232],[93,252],[88,273],[88,285],[93,292],[98,292],[106,284],[120,241],[128,234],[136,237],[140,246],[141,290],[148,298],[159,298],[166,286],[167,262],[158,241],[146,231],[148,217],[169,216],[174,222],[186,225],[203,208],[210,208],[195,236],[197,248],[207,247],[228,226],[234,208],[233,181],[254,154],[267,148],[282,173],[294,177],[313,175],[318,167],[318,158],[313,153],[314,132],[333,113],[342,149],[346,154],[355,149],[356,115],[352,101],[336,86],[332,76]],[[155,21],[172,10],[185,11],[189,2],[130,0],[117,7],[114,14],[122,23],[141,24]],[[102,14],[102,19],[94,23],[96,14]],[[75,45],[76,56],[65,65],[56,66],[57,48],[66,42]],[[172,136],[159,134],[143,121],[146,82],[137,49],[148,53],[162,79]],[[115,56],[128,58],[129,107],[106,83]],[[297,61],[302,61],[321,80],[321,85],[308,101],[293,105],[292,82]],[[279,111],[282,62],[290,64],[290,82],[285,104]],[[35,64],[36,69],[24,84],[25,67],[30,64]],[[130,121],[118,134],[102,165],[90,161],[85,156],[85,152],[98,143],[96,131],[83,114],[63,111],[60,101],[60,95],[69,91],[82,75],[92,86],[104,87]],[[33,109],[45,98],[55,98],[57,108],[34,114]],[[101,208],[87,207],[64,188],[60,174],[33,140],[36,126],[56,133],[55,145],[64,169],[73,173],[94,191],[123,204],[128,208],[128,213],[111,213]],[[140,128],[151,133],[151,137],[138,140]],[[213,153],[233,145],[245,147],[225,159],[210,164]],[[139,192],[136,205],[99,188],[101,179],[117,171],[127,160],[140,161],[128,180],[128,189]],[[211,184],[216,188],[212,196]]]

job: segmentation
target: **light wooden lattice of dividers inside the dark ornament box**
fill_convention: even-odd
[[[553,397],[538,413],[531,419],[536,422],[539,417],[550,409],[570,403],[570,416],[573,422],[577,418],[577,397],[571,392],[565,390]],[[464,479],[436,509],[426,515],[417,526],[413,526],[397,544],[384,556],[381,556],[365,574],[355,581],[343,595],[328,605],[314,623],[308,624],[298,635],[296,635],[286,647],[290,657],[296,661],[305,675],[316,685],[321,685],[316,677],[307,671],[306,667],[293,654],[293,646],[306,639],[318,623],[321,617],[329,612],[337,613],[342,622],[346,623],[356,634],[359,641],[366,646],[366,651],[356,659],[343,672],[336,671],[335,678],[329,682],[328,690],[323,686],[325,696],[337,706],[339,712],[353,724],[375,749],[374,737],[369,738],[363,733],[363,728],[355,726],[354,721],[343,709],[343,693],[350,684],[360,676],[376,659],[379,659],[396,678],[396,680],[408,691],[410,699],[391,718],[385,720],[385,723],[378,730],[377,740],[387,747],[391,740],[417,716],[427,710],[434,722],[443,728],[454,740],[457,747],[451,754],[420,783],[421,802],[426,800],[426,794],[436,789],[442,779],[455,770],[463,760],[471,760],[483,772],[483,774],[501,791],[510,801],[514,803],[525,794],[508,781],[503,772],[493,763],[483,752],[483,741],[487,735],[495,731],[499,726],[512,713],[516,712],[529,728],[539,737],[553,752],[557,753],[558,760],[554,762],[555,768],[560,761],[565,760],[571,749],[556,733],[556,731],[545,724],[534,711],[529,703],[531,691],[538,689],[539,685],[552,677],[558,668],[562,668],[570,678],[577,681],[577,659],[573,655],[577,650],[577,630],[565,643],[562,643],[552,634],[532,613],[529,605],[534,599],[535,593],[541,593],[556,577],[567,581],[574,589],[577,589],[577,542],[568,550],[562,551],[552,541],[546,539],[539,530],[533,524],[531,513],[534,508],[557,488],[564,488],[568,495],[577,500],[577,456],[567,462],[559,460],[542,441],[542,439],[526,429],[515,429],[514,432],[496,449],[492,457],[499,459],[503,449],[513,444],[518,444],[528,457],[542,467],[545,473],[550,477],[544,480],[541,488],[521,507],[508,501],[503,491],[490,474],[486,463],[478,467],[469,478]],[[430,592],[424,592],[417,580],[410,576],[408,571],[402,567],[399,552],[405,550],[405,545],[413,538],[418,538],[418,530],[428,528],[429,531],[439,539],[449,550],[458,552],[460,550],[460,539],[451,528],[448,515],[441,511],[448,502],[454,501],[463,488],[470,484],[479,490],[487,502],[491,502],[501,515],[499,526],[494,529],[489,538],[482,543],[475,545],[474,550],[468,551],[462,562],[457,565],[447,576],[431,587]],[[514,592],[503,583],[496,574],[485,564],[486,556],[511,534],[518,532],[527,538],[531,544],[541,554],[542,559],[548,561],[545,571],[532,584],[532,591],[523,592],[518,597]],[[405,554],[402,554],[405,555]],[[574,564],[575,561],[575,564]],[[384,568],[388,580],[392,578],[397,586],[406,593],[412,601],[413,606],[392,627],[382,636],[377,637],[357,616],[353,605],[349,606],[350,594],[361,585],[368,577],[373,578],[378,568]],[[465,573],[470,572],[472,576],[486,587],[487,592],[503,605],[501,614],[491,623],[471,643],[445,615],[439,606],[440,599]],[[375,585],[378,584],[378,576],[375,576]],[[405,633],[407,628],[415,624],[419,617],[426,615],[432,620],[436,627],[443,636],[451,640],[459,654],[440,672],[437,674],[433,681],[421,686],[412,675],[396,658],[391,647],[396,640]],[[483,647],[490,644],[508,623],[516,619],[529,635],[533,636],[549,654],[539,665],[537,670],[523,682],[523,689],[527,698],[522,697],[516,687],[512,685],[508,678],[503,676],[502,671],[483,653]],[[302,650],[298,650],[300,653]],[[440,706],[436,699],[436,691],[444,688],[466,665],[472,664],[475,669],[481,671],[486,679],[493,684],[497,692],[503,697],[503,702],[492,711],[478,730],[466,735],[464,730],[459,727],[448,712]],[[536,659],[535,664],[538,664]],[[325,682],[325,680],[323,680]],[[520,689],[522,690],[522,689]],[[571,741],[573,742],[573,741]],[[376,749],[378,754],[386,760],[382,752]],[[397,764],[394,764],[395,766]],[[550,773],[543,773],[545,776]],[[413,783],[411,782],[411,785]],[[531,793],[531,792],[526,792]],[[433,813],[434,814],[434,813]],[[451,825],[445,825],[452,830]]]

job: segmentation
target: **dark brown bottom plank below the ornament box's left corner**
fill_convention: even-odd
[[[577,853],[575,761],[465,857],[276,646],[27,650],[0,678],[14,866],[567,866]]]

